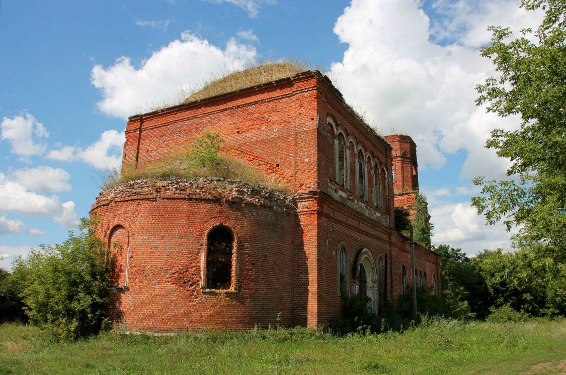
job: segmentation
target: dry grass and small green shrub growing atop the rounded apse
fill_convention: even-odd
[[[247,182],[251,185],[261,185],[269,189],[290,191],[290,185],[274,175],[259,171],[242,160],[224,155],[220,151],[224,141],[218,133],[205,132],[189,147],[186,154],[171,156],[159,162],[135,168],[127,165],[123,171],[110,169],[99,176],[101,190],[110,189],[121,182],[139,180],[140,178],[194,178],[220,177],[229,180]]]

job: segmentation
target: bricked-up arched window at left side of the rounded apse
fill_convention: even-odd
[[[122,225],[116,225],[110,231],[108,247],[110,248],[110,278],[113,285],[128,285],[128,268],[130,266],[128,231]]]

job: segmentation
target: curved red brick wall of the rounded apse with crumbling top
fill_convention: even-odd
[[[119,278],[112,295],[113,320],[151,332],[293,324],[294,213],[267,190],[233,193],[249,186],[215,185],[133,182],[98,198],[93,213],[100,215],[101,237],[117,225],[127,232],[122,241],[129,237],[129,280],[125,287]],[[207,233],[217,225],[235,234],[234,291],[200,286]],[[121,270],[125,258],[118,258]]]

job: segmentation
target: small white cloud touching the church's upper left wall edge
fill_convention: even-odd
[[[76,151],[76,156],[95,168],[118,168],[122,164],[124,142],[126,142],[125,132],[106,130],[98,141],[84,150]]]

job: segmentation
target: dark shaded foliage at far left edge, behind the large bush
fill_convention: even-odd
[[[0,323],[25,321],[22,285],[15,277],[0,268]]]

